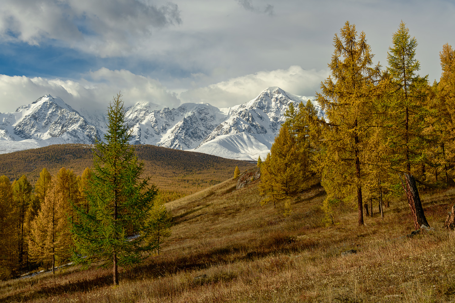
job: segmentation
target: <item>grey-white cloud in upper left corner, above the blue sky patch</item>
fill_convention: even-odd
[[[173,3],[139,0],[3,0],[0,38],[30,45],[53,43],[101,57],[121,55],[153,29],[180,24]]]

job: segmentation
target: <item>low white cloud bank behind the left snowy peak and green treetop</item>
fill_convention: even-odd
[[[180,100],[156,80],[128,70],[101,68],[75,80],[0,75],[0,108],[12,112],[45,94],[61,97],[76,110],[104,110],[112,96],[121,91],[126,106],[150,102],[177,107]]]

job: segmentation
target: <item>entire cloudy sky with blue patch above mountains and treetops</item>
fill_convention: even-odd
[[[313,96],[346,20],[384,67],[403,20],[420,75],[439,81],[454,15],[454,0],[1,0],[0,112],[45,94],[78,110],[119,91],[170,108],[229,107],[269,86]]]

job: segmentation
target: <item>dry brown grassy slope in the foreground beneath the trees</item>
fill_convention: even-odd
[[[122,270],[71,268],[0,283],[0,300],[33,302],[451,302],[453,232],[440,229],[455,190],[423,195],[434,232],[415,238],[407,203],[392,201],[357,227],[341,209],[323,222],[324,191],[315,184],[284,217],[261,207],[257,182],[235,190],[230,179],[167,204],[172,236],[160,255]],[[376,211],[377,212],[377,211]],[[358,253],[341,256],[356,249]],[[196,278],[200,277],[200,278]],[[196,278],[196,279],[195,279]]]

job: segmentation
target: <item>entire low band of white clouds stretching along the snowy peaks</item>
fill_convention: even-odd
[[[194,75],[196,78],[201,76]],[[324,70],[291,66],[287,70],[259,71],[201,88],[180,89],[179,99],[158,80],[128,70],[101,68],[84,74],[79,80],[0,75],[0,111],[15,111],[20,105],[29,104],[45,94],[61,97],[76,110],[104,110],[119,91],[126,106],[150,102],[172,108],[184,102],[207,102],[229,107],[253,99],[270,86],[279,86],[292,94],[314,95],[327,76],[328,72]]]

